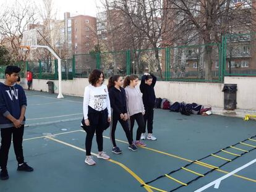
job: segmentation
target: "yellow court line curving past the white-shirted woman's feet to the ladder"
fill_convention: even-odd
[[[64,141],[56,140],[55,138],[51,138],[51,137],[48,137],[48,136],[45,136],[45,137],[48,138],[49,140],[53,140],[53,141],[56,141],[58,143],[64,144],[66,146],[70,146],[71,148],[75,148],[75,149],[77,149],[79,151],[86,152],[85,149],[79,148],[77,146],[74,146],[72,144],[66,143]],[[97,156],[97,154],[95,154],[95,153],[92,153],[92,155],[93,156]],[[117,164],[117,165],[121,166],[124,170],[126,170],[128,173],[130,173],[130,175],[132,175],[132,177],[134,177],[141,185],[143,185],[145,183],[138,175],[136,175],[132,170],[130,170],[128,167],[126,167],[126,165],[121,164],[121,162],[114,161],[113,159],[108,159],[107,161],[113,162],[114,164]],[[148,192],[153,192],[148,186],[143,186],[143,187]]]

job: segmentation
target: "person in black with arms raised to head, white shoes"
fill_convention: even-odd
[[[140,82],[140,91],[142,92],[142,100],[145,108],[145,115],[144,121],[145,125],[147,123],[147,129],[148,129],[148,140],[156,140],[156,137],[152,135],[153,133],[153,117],[154,117],[154,106],[155,106],[155,90],[154,87],[156,85],[156,77],[153,74],[150,75],[143,75],[142,81]],[[141,140],[145,140],[146,135],[146,127],[144,128],[144,131],[142,132],[142,135],[140,137]]]

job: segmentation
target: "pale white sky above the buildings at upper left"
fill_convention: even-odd
[[[36,5],[41,4],[42,0],[0,0],[0,5],[11,5],[15,1],[19,2],[35,2]],[[64,12],[72,14],[90,15],[96,17],[98,7],[101,6],[103,0],[53,0],[54,8],[58,10],[57,19],[64,19]]]

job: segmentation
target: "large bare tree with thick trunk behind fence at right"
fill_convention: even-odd
[[[220,43],[226,33],[250,31],[255,25],[255,11],[252,1],[239,4],[232,0],[166,0],[168,10],[176,15],[174,33],[190,32],[189,39],[202,40],[204,44]],[[250,24],[249,24],[250,23]],[[248,25],[249,24],[249,25]],[[235,27],[234,27],[235,26]],[[205,79],[211,80],[213,46],[205,46]]]

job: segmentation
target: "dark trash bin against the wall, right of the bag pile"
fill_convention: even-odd
[[[224,92],[224,109],[236,109],[237,84],[224,84],[222,91]]]

